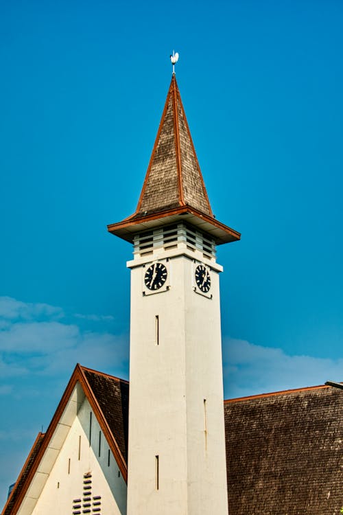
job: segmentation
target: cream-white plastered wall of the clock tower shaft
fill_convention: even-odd
[[[158,260],[166,256],[162,250]],[[217,268],[209,299],[193,291],[195,264],[187,255],[169,252],[163,262],[169,290],[145,296],[143,260],[129,263],[128,515],[226,515],[220,267],[208,262]]]

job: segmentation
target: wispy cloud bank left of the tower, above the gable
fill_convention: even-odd
[[[78,315],[97,324],[93,331],[82,330],[62,317],[60,308],[48,304],[0,297],[0,381],[27,374],[58,376],[76,363],[106,370],[110,367],[127,376],[128,337],[106,332],[106,325],[99,327],[100,321],[113,317]],[[10,394],[6,389],[2,394],[6,392]]]

